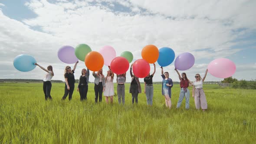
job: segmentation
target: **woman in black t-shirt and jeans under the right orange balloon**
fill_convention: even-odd
[[[144,78],[144,93],[146,94],[147,97],[147,104],[152,105],[153,104],[153,76],[154,73],[156,72],[156,65],[154,64],[154,72],[152,75],[150,73]]]

